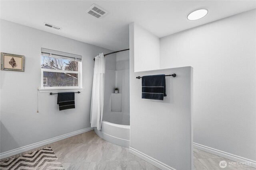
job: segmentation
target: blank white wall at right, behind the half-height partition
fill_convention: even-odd
[[[194,68],[194,142],[256,161],[256,10],[160,39],[160,67]]]

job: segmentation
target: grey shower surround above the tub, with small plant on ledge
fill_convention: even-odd
[[[129,51],[106,58],[103,120],[130,125]],[[114,88],[118,88],[115,94]]]

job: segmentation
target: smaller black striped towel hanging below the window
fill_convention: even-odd
[[[59,110],[74,109],[75,93],[74,92],[58,93],[57,104],[59,105]]]

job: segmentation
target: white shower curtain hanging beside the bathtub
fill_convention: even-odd
[[[90,117],[91,127],[97,127],[98,130],[101,129],[104,107],[105,66],[106,59],[101,53],[95,57]]]

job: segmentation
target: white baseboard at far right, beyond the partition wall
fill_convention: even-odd
[[[199,149],[199,150],[203,150],[205,152],[209,152],[211,154],[215,154],[217,156],[221,156],[223,158],[229,159],[229,160],[233,160],[236,162],[247,162],[246,165],[251,166],[253,168],[256,168],[256,161],[255,160],[250,160],[247,158],[243,158],[241,156],[237,156],[228,152],[224,152],[222,150],[218,150],[218,149],[214,149],[214,148],[210,148],[210,147],[206,147],[204,145],[198,144],[198,143],[194,143],[194,148]]]

